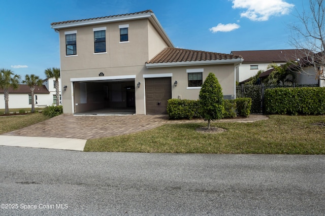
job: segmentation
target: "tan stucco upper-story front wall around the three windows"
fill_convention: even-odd
[[[129,24],[128,43],[120,43],[119,25]],[[106,27],[106,52],[94,54],[93,28]],[[64,31],[77,30],[77,56],[66,57]],[[148,61],[148,21],[104,23],[60,30],[61,70],[143,65]],[[160,51],[161,49],[159,49]],[[156,51],[156,52],[159,52]]]

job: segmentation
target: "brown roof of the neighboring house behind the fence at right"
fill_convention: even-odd
[[[232,51],[234,55],[241,55],[245,62],[287,62],[297,60],[301,55],[301,50],[250,50]]]

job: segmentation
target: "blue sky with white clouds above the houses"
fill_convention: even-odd
[[[152,10],[175,47],[210,52],[293,49],[287,25],[297,22],[294,0],[2,0],[0,68],[35,74],[59,67],[52,22]],[[297,10],[297,11],[296,11]]]

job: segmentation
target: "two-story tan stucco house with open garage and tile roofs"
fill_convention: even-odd
[[[198,99],[210,72],[235,98],[240,55],[174,48],[152,11],[51,23],[59,32],[64,113],[166,113]]]

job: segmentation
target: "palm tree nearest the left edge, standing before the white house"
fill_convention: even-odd
[[[0,88],[4,90],[5,96],[5,114],[9,114],[9,88],[19,88],[20,76],[15,75],[12,70],[2,68],[0,69]]]

